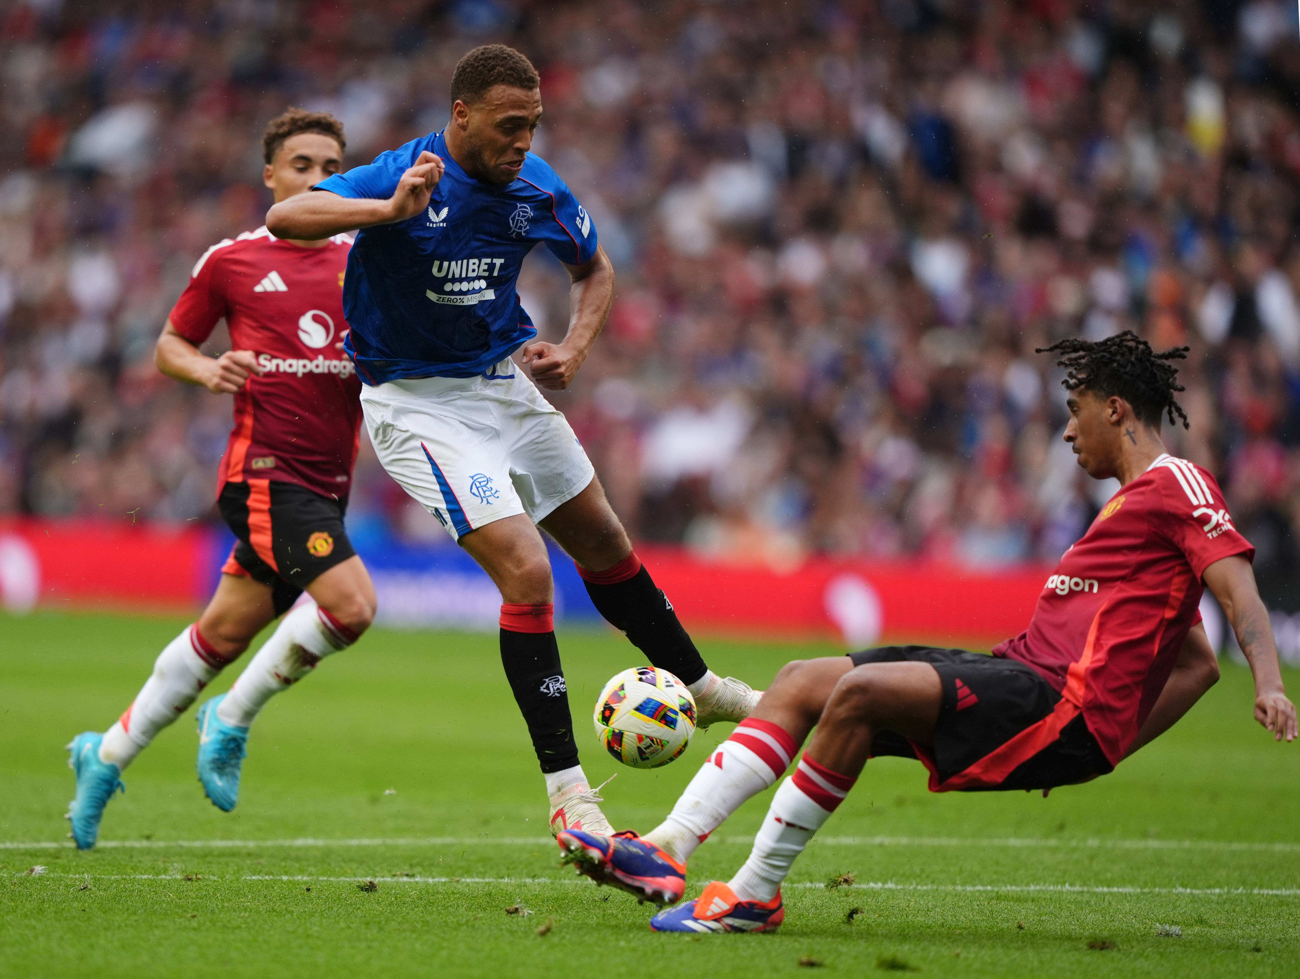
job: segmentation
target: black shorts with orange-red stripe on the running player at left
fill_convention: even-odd
[[[356,554],[343,528],[346,496],[321,496],[278,479],[248,479],[226,483],[217,509],[238,538],[221,573],[268,586],[277,615],[320,575]]]

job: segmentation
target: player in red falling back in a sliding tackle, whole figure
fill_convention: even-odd
[[[1184,348],[1186,349],[1186,348]],[[1254,675],[1254,717],[1296,737],[1254,548],[1232,526],[1206,470],[1174,458],[1161,418],[1174,400],[1171,360],[1132,332],[1063,340],[1065,439],[1095,479],[1121,489],[1046,579],[1030,627],[980,656],[887,647],[793,662],[754,714],[705,763],[668,819],[645,837],[562,832],[578,869],[645,900],[681,897],[686,858],[745,800],[777,789],[754,849],[729,882],[660,911],[656,931],[770,931],[794,858],[878,754],[916,758],[932,792],[1046,789],[1087,782],[1178,721],[1218,679],[1197,606],[1209,588]]]

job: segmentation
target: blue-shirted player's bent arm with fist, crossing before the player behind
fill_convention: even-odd
[[[318,242],[359,227],[406,221],[429,206],[442,170],[442,160],[426,149],[415,166],[402,174],[387,200],[341,197],[324,190],[296,193],[266,212],[266,230],[276,238]]]

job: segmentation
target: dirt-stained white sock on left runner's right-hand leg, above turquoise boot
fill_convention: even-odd
[[[248,727],[268,700],[355,641],[355,632],[315,602],[291,609],[217,704],[217,717],[234,727]]]

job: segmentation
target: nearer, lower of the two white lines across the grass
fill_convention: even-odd
[[[29,871],[12,873],[10,876],[27,876]],[[32,876],[57,876],[73,880],[185,880],[178,874],[51,874],[42,870]],[[243,876],[208,876],[203,875],[195,880],[263,880],[263,882],[290,882],[290,883],[342,883],[361,884],[369,880],[389,884],[581,884],[581,876],[551,878],[551,876],[311,876],[306,874],[247,874]],[[826,889],[826,884],[816,880],[803,880],[786,884],[789,888],[800,889]],[[838,888],[837,888],[838,889]],[[848,891],[936,891],[948,893],[984,893],[984,892],[1011,892],[1011,893],[1066,893],[1066,895],[1184,895],[1191,897],[1300,897],[1300,888],[1296,887],[1135,887],[1135,886],[1091,886],[1091,884],[900,884],[893,880],[868,880],[863,883],[845,884]]]

